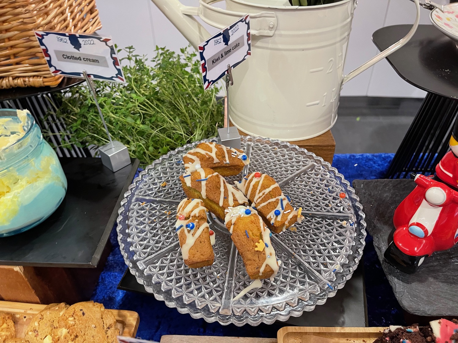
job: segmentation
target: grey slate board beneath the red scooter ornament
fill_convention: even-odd
[[[414,181],[355,180],[353,187],[382,268],[403,309],[418,316],[458,316],[458,246],[426,257],[414,274],[400,272],[383,258],[388,236],[394,230],[394,210],[414,189]]]

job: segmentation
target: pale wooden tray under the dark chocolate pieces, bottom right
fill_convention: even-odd
[[[307,335],[338,339],[342,343],[372,343],[386,327],[282,327],[278,343],[301,343]]]

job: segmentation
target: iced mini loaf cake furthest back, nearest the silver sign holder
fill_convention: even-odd
[[[239,174],[250,160],[243,150],[229,148],[215,142],[203,142],[183,155],[183,163],[185,170],[189,172],[201,167],[211,168],[226,177]]]

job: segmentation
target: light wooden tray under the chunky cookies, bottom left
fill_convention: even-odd
[[[32,316],[43,310],[47,305],[27,304],[12,301],[0,301],[0,312],[13,314],[16,326],[17,337],[24,337],[25,330],[32,319]],[[137,312],[125,310],[109,310],[116,317],[116,322],[120,330],[120,336],[135,337],[140,322]]]

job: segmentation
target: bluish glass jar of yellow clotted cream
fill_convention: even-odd
[[[30,112],[0,109],[0,139],[0,237],[5,237],[48,218],[65,197],[67,179]]]

